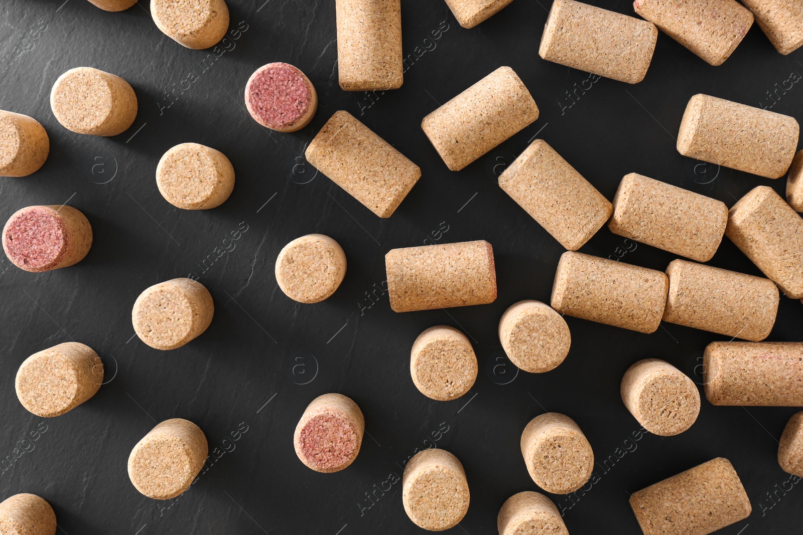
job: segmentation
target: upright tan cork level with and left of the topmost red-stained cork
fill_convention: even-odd
[[[116,136],[137,118],[137,95],[120,76],[76,67],[59,76],[51,109],[64,128],[92,136]]]

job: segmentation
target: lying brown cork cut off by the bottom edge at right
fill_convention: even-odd
[[[722,457],[634,492],[630,507],[645,535],[707,535],[752,512],[739,475]]]

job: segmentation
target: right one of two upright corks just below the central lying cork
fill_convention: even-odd
[[[540,301],[520,301],[502,314],[499,340],[507,358],[530,373],[550,371],[569,355],[566,320]]]

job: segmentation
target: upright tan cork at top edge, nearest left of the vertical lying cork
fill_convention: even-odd
[[[150,10],[157,28],[187,48],[209,48],[229,29],[223,0],[151,0]]]

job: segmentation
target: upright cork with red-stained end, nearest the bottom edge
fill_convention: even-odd
[[[364,432],[365,419],[357,403],[342,394],[324,394],[304,410],[293,445],[308,468],[339,472],[357,459]]]

